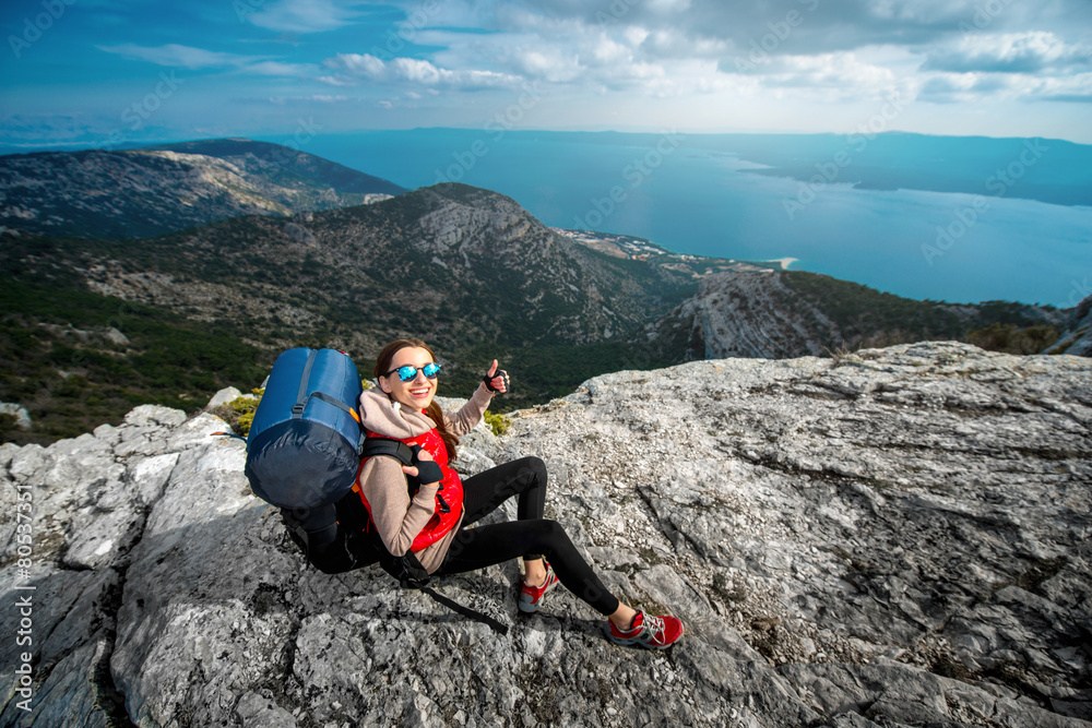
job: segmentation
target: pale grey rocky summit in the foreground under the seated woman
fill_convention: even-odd
[[[625,371],[476,430],[464,470],[545,458],[547,515],[685,620],[651,653],[563,590],[521,617],[514,563],[439,587],[503,636],[318,573],[223,422],[139,407],[0,447],[31,673],[0,725],[1089,726],[1090,425],[1092,361],[941,343]]]

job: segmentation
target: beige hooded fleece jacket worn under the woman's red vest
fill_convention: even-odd
[[[453,415],[443,414],[448,430],[456,435],[470,432],[482,420],[491,401],[492,395],[489,390],[484,384],[479,385],[474,396],[459,411]],[[436,422],[426,414],[392,402],[380,389],[365,391],[360,395],[359,409],[364,427],[387,438],[399,440],[415,438],[436,427]],[[406,492],[406,476],[396,460],[378,456],[364,464],[364,469],[360,470],[360,490],[371,506],[371,518],[376,523],[376,529],[391,553],[402,554],[410,550],[413,539],[436,511],[438,487],[438,485],[422,486],[411,499]],[[461,525],[462,517],[443,538],[420,551],[415,551],[428,573],[434,573],[443,563],[443,558],[448,554],[451,541]]]

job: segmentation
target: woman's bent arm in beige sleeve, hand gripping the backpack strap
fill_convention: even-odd
[[[402,465],[393,457],[377,455],[360,470],[360,490],[371,506],[371,520],[387,550],[404,556],[436,511],[438,482],[423,485],[410,498]]]

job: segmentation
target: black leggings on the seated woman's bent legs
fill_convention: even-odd
[[[519,521],[466,528],[519,496]],[[463,481],[463,524],[451,541],[437,576],[461,574],[509,559],[545,556],[566,588],[602,614],[614,613],[618,599],[598,580],[557,521],[543,518],[546,509],[546,464],[523,457],[498,465]]]

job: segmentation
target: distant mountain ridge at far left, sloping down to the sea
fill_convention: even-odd
[[[0,226],[139,238],[245,214],[286,216],[405,190],[290,147],[219,140],[0,157]]]

